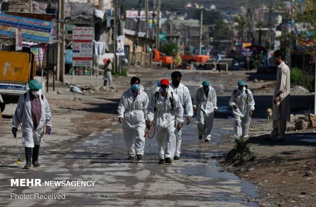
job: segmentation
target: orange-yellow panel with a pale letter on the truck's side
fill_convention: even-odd
[[[0,81],[27,83],[33,78],[34,58],[30,54],[0,51],[0,57]]]

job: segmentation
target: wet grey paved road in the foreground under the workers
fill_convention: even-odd
[[[225,120],[224,120],[225,121]],[[221,132],[224,132],[221,130]],[[213,134],[220,143],[219,131]],[[11,164],[0,171],[2,206],[256,206],[247,202],[258,197],[257,188],[228,173],[221,172],[196,137],[196,125],[183,132],[183,156],[171,165],[159,165],[155,139],[146,140],[144,160],[126,160],[121,126],[94,133],[58,150],[42,150],[41,167],[22,169]],[[94,187],[11,187],[11,178],[47,180],[93,180]],[[11,193],[30,194],[32,199],[10,199]],[[63,194],[66,199],[34,199],[34,193]]]

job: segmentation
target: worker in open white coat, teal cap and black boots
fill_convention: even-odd
[[[37,80],[32,80],[29,82],[29,88],[27,93],[20,95],[12,120],[14,137],[22,122],[22,144],[26,160],[24,169],[31,168],[31,161],[34,167],[40,166],[38,163],[40,144],[44,133],[50,134],[51,131],[51,113],[41,84]]]

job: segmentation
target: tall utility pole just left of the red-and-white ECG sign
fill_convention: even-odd
[[[58,56],[57,63],[59,63],[58,79],[64,82],[65,75],[65,1],[59,0],[59,30],[58,30]]]

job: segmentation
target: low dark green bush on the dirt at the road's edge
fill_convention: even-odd
[[[255,153],[249,148],[244,138],[235,138],[235,146],[229,151],[228,159],[233,162],[246,163],[255,160]]]

